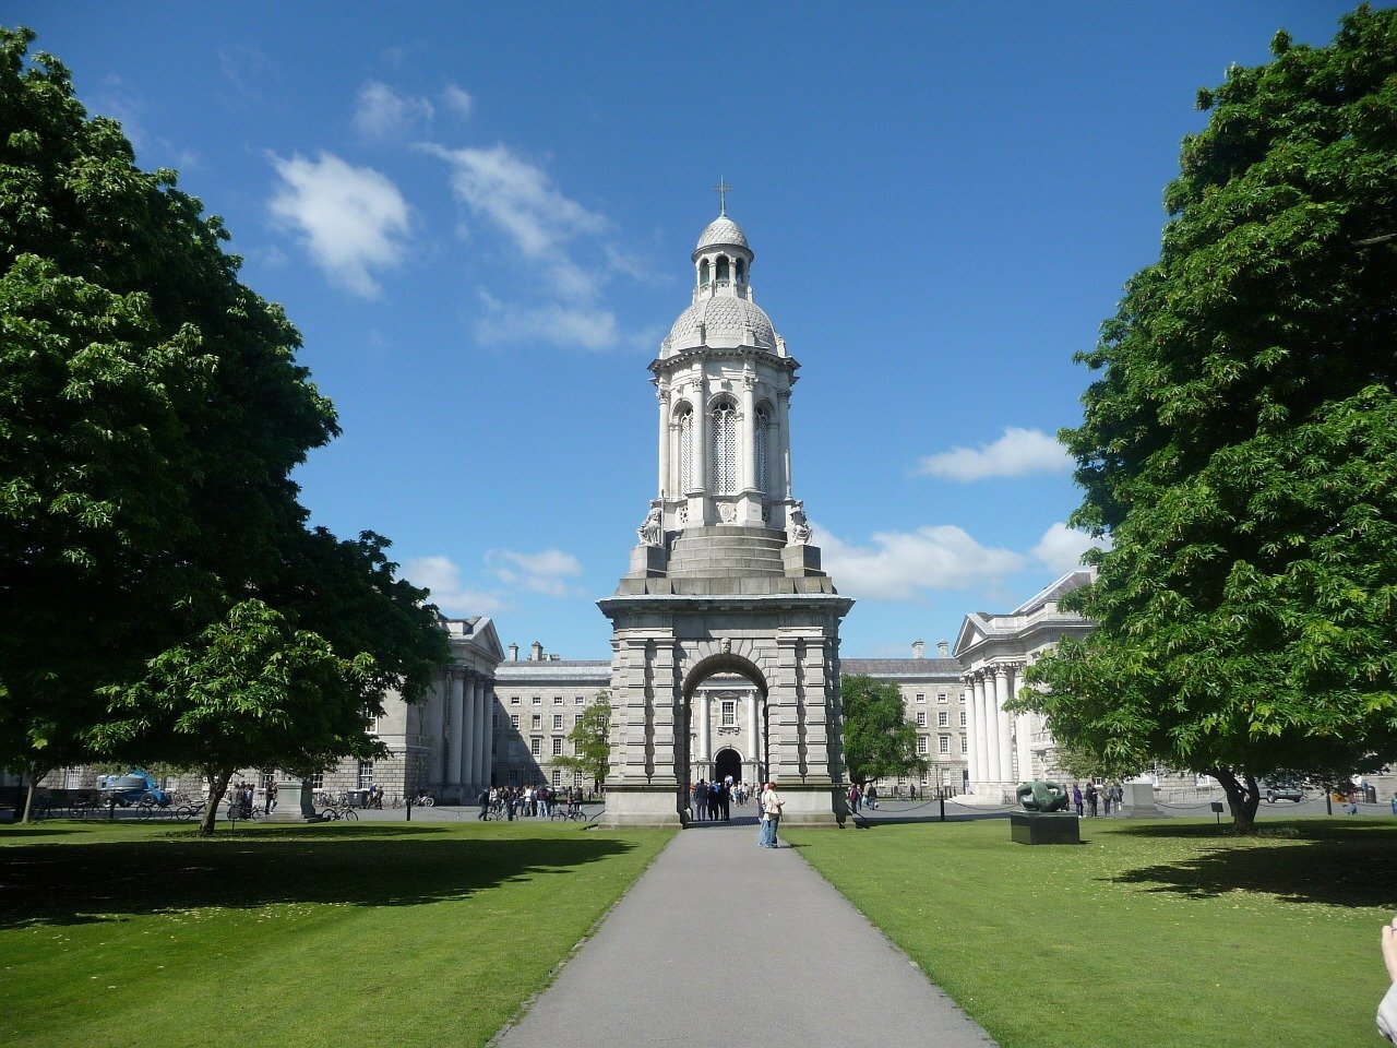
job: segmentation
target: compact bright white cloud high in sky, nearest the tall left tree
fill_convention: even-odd
[[[397,265],[408,235],[408,203],[398,187],[328,152],[317,161],[272,154],[271,163],[281,177],[268,204],[272,215],[300,235],[331,279],[363,298],[377,296],[369,272]]]

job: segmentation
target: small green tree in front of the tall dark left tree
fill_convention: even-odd
[[[243,601],[196,641],[152,658],[142,679],[103,689],[110,714],[95,742],[133,760],[154,752],[197,767],[208,834],[240,767],[309,774],[346,753],[386,756],[369,735],[377,675],[370,655],[339,658],[319,634]]]

